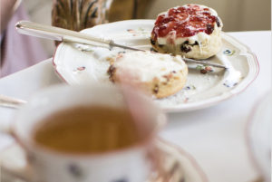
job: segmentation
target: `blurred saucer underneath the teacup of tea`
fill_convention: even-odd
[[[194,158],[180,148],[158,139],[156,153],[159,153],[157,159],[161,164],[160,175],[154,171],[147,182],[208,182],[206,175]],[[17,144],[6,148],[0,154],[0,161],[2,161],[0,168],[2,168],[4,181],[15,181],[16,178],[20,178],[26,182],[25,174],[31,174],[24,157],[24,150]]]

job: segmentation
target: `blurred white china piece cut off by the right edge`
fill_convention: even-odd
[[[271,181],[271,101],[272,91],[257,101],[248,121],[248,150],[264,182]]]

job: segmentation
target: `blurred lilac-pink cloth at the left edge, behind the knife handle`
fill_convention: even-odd
[[[34,65],[48,58],[38,38],[18,34],[15,24],[28,20],[24,6],[20,5],[2,35],[0,77]]]

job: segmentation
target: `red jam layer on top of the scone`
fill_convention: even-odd
[[[199,32],[212,34],[214,25],[220,26],[219,18],[211,14],[208,7],[183,5],[173,7],[165,14],[160,14],[152,30],[153,39],[175,34],[174,37],[189,37]]]

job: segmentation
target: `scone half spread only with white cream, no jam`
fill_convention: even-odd
[[[130,52],[114,57],[108,73],[113,82],[129,83],[156,98],[164,98],[183,88],[188,68],[180,55]]]

